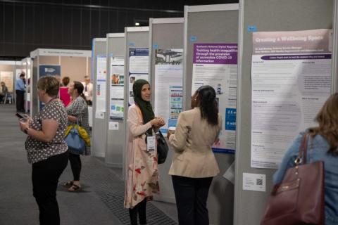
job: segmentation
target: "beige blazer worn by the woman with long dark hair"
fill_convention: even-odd
[[[169,138],[174,150],[170,175],[193,178],[216,176],[220,170],[211,146],[218,138],[222,117],[218,114],[218,126],[201,120],[199,107],[180,113],[175,135]]]

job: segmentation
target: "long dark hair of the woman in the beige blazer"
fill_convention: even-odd
[[[200,86],[196,90],[196,98],[199,100],[199,108],[201,109],[202,119],[206,119],[209,124],[218,124],[218,107],[216,101],[216,92],[212,86]]]

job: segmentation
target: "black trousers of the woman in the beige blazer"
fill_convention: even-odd
[[[213,177],[172,176],[180,225],[208,225],[206,200]]]

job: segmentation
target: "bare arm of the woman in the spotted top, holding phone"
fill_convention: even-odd
[[[58,130],[58,122],[56,120],[42,120],[42,130],[37,131],[28,126],[29,121],[20,122],[20,127],[23,131],[27,132],[27,135],[32,139],[38,141],[50,142],[54,139],[56,131]]]

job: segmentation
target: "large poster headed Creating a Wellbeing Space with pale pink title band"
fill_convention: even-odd
[[[251,167],[277,168],[331,87],[331,30],[254,32]]]

